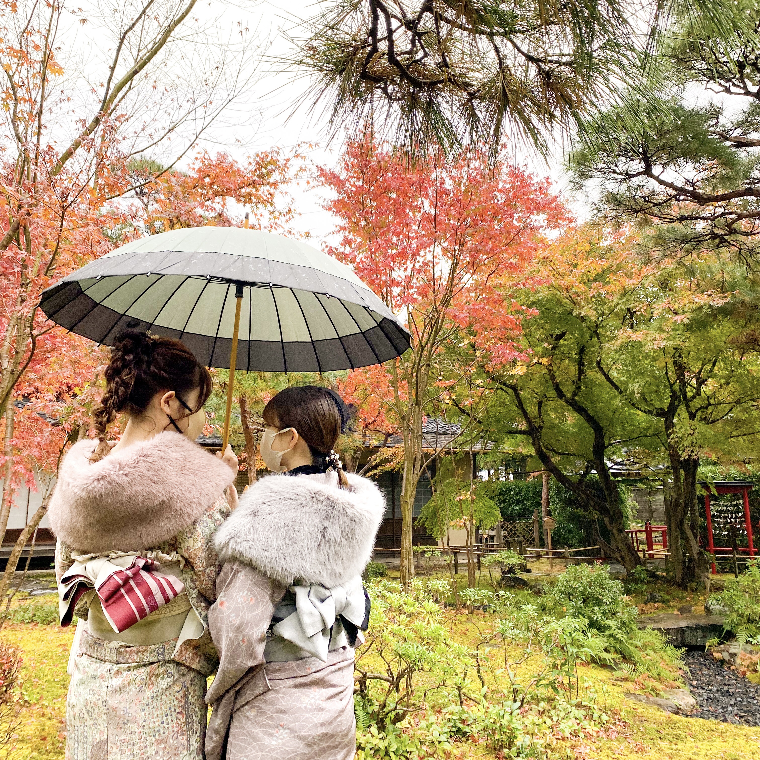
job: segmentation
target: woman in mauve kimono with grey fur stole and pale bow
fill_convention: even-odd
[[[340,397],[306,386],[264,407],[250,487],[214,538],[223,567],[209,628],[220,654],[207,760],[353,760],[353,648],[369,622],[361,574],[385,502],[333,452]]]

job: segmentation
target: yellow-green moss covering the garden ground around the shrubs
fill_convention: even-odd
[[[537,565],[539,563],[536,563]],[[534,565],[535,568],[535,565]],[[536,568],[541,572],[543,568]],[[556,568],[561,572],[563,568]],[[542,572],[542,580],[550,582],[549,568]],[[537,576],[534,576],[538,580]],[[487,581],[484,574],[482,581]],[[466,581],[466,575],[461,575]],[[483,586],[489,585],[483,582]],[[657,591],[669,597],[660,606],[661,611],[675,610],[683,604],[698,607],[704,604],[704,595],[670,589],[663,584],[636,590],[634,603],[646,604],[648,591]],[[689,598],[691,597],[691,598]],[[45,597],[43,597],[44,599]],[[50,600],[20,600],[19,606],[40,608]],[[16,606],[14,604],[14,606]],[[658,610],[658,611],[660,611]],[[40,619],[45,619],[40,615]],[[456,638],[465,643],[473,638],[477,627],[489,625],[489,616],[474,613],[472,616],[455,616],[451,621]],[[62,760],[65,754],[65,695],[68,688],[66,663],[71,648],[72,629],[39,623],[5,625],[0,640],[21,651],[22,711],[21,721],[14,733],[11,760]],[[496,656],[496,652],[493,653]],[[698,718],[677,717],[623,698],[623,692],[642,691],[645,682],[633,682],[625,674],[614,673],[599,667],[583,668],[589,686],[605,693],[607,708],[616,714],[612,727],[603,735],[588,736],[581,743],[567,746],[576,760],[758,760],[760,758],[760,728],[746,728]],[[452,758],[493,757],[485,748],[475,744],[457,746]],[[564,755],[563,755],[564,756]],[[559,755],[558,755],[559,757]]]

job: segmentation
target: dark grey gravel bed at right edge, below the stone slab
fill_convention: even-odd
[[[684,680],[698,705],[690,717],[760,726],[760,686],[714,660],[709,652],[687,649],[683,661],[689,669]]]

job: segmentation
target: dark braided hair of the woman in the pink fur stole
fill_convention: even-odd
[[[135,330],[116,336],[105,376],[106,390],[93,412],[99,443],[92,461],[110,451],[106,430],[120,413],[141,415],[160,391],[175,391],[185,401],[187,394],[198,389],[198,404],[192,410],[195,413],[213,390],[211,374],[185,344]]]

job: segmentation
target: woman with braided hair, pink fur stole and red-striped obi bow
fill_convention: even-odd
[[[49,508],[69,660],[67,760],[202,760],[211,538],[230,515],[238,463],[195,444],[211,376],[179,340],[119,335],[95,410],[97,439],[71,447]],[[116,445],[108,426],[126,425]]]

